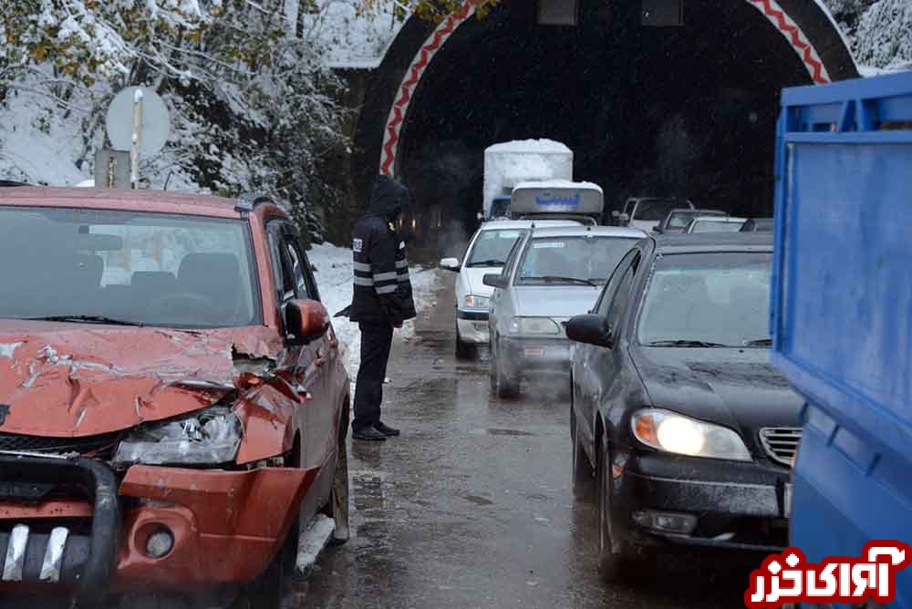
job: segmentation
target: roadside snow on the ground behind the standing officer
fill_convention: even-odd
[[[324,243],[315,245],[307,253],[310,263],[316,267],[316,284],[320,297],[329,315],[336,315],[351,304],[352,294],[352,253],[351,250],[337,245]],[[437,305],[434,294],[440,288],[440,275],[436,269],[424,269],[412,266],[411,286],[415,296],[415,306],[419,311]],[[358,375],[360,363],[361,334],[358,324],[348,321],[347,317],[333,319],[333,326],[339,341],[346,345],[345,364],[352,380]],[[396,331],[393,340],[408,339],[415,334],[414,322],[406,322],[401,330]]]

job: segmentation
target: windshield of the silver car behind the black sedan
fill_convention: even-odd
[[[604,284],[637,239],[542,237],[526,247],[516,284]]]

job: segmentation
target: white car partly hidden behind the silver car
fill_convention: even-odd
[[[485,274],[500,273],[520,237],[536,228],[580,226],[572,220],[497,220],[484,222],[472,236],[461,262],[444,258],[440,267],[459,273],[456,279],[456,357],[468,359],[488,343],[488,312],[493,288],[482,283]]]

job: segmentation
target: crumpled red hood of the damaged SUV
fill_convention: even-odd
[[[0,320],[2,433],[79,437],[211,406],[240,376],[235,356],[275,360],[264,326],[164,328]]]

